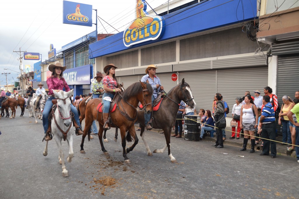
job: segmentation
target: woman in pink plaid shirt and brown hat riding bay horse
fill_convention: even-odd
[[[105,66],[104,73],[106,76],[103,78],[103,85],[105,93],[103,94],[103,120],[104,120],[104,129],[109,129],[109,125],[106,124],[106,121],[109,116],[109,107],[112,99],[114,98],[115,92],[119,92],[120,89],[117,88],[117,79],[115,77],[115,69],[117,69],[114,64],[109,64]]]

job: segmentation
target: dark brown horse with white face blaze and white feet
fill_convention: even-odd
[[[176,122],[176,114],[178,113],[179,104],[181,100],[187,103],[191,108],[195,107],[196,105],[195,101],[193,100],[193,95],[191,93],[190,86],[185,82],[184,78],[182,79],[181,83],[173,87],[167,93],[167,95],[163,98],[160,104],[160,108],[157,111],[153,112],[153,128],[163,129],[166,140],[166,146],[162,149],[155,149],[154,153],[163,153],[165,149],[168,148],[168,156],[170,157],[170,160],[173,163],[177,163],[177,160],[173,157],[173,155],[170,152],[170,134],[171,129],[173,128]],[[147,142],[145,140],[144,113],[138,112],[137,121],[139,122],[139,124],[141,124],[140,136],[147,150],[147,155],[152,156],[152,152],[150,151],[149,146],[147,145]],[[117,133],[114,140],[116,139]]]

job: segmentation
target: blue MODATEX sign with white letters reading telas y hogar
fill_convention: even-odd
[[[66,69],[63,78],[69,85],[90,84],[90,65]]]

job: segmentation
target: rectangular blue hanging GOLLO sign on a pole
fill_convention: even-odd
[[[92,26],[92,5],[63,1],[62,23]]]

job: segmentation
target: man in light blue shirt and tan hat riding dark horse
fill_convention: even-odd
[[[158,93],[164,89],[164,87],[160,85],[160,79],[156,76],[156,69],[157,67],[155,67],[154,65],[149,65],[147,69],[145,69],[146,75],[141,78],[142,82],[149,83],[154,90],[154,92],[152,93],[152,103],[155,98],[157,98]],[[152,129],[151,124],[149,124],[150,115],[151,113],[144,113],[144,123],[147,130]]]

